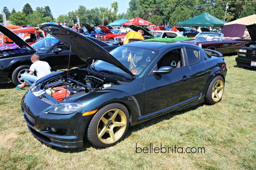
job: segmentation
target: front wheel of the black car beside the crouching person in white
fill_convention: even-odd
[[[21,74],[29,73],[29,68],[30,66],[28,65],[22,65],[14,69],[12,72],[12,82],[15,84],[15,86],[24,82],[24,80],[21,78]]]

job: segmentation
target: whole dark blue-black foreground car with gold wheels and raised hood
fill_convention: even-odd
[[[139,41],[107,52],[72,30],[56,25],[41,29],[81,60],[96,60],[44,76],[22,98],[28,129],[44,143],[74,148],[87,145],[88,140],[106,148],[120,142],[130,126],[222,99],[226,60],[214,50],[188,43]]]

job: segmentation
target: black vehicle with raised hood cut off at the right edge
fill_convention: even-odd
[[[252,42],[239,48],[236,63],[238,66],[256,69],[256,24],[246,26]]]

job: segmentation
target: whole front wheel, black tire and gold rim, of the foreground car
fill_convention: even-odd
[[[128,128],[127,108],[119,103],[108,104],[92,117],[87,129],[87,140],[98,148],[113,146],[122,140]]]

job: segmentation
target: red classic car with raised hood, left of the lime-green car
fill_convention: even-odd
[[[100,29],[102,29],[106,33],[105,35],[97,34],[95,36],[98,40],[101,40],[101,41],[113,41],[116,36],[122,36],[122,35],[125,36],[126,35],[126,33],[122,33],[121,30],[111,30],[110,31],[105,26],[99,25],[98,27],[100,27]]]

